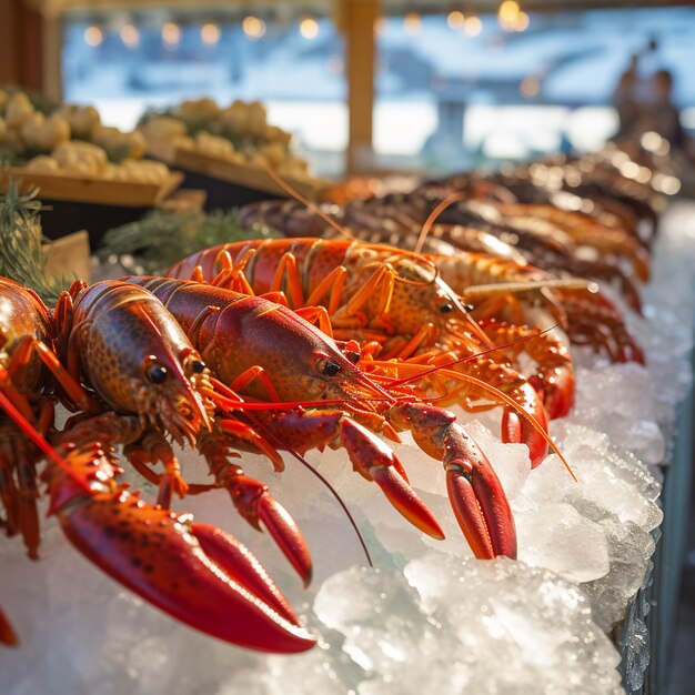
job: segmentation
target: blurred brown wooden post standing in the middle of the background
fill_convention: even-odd
[[[341,0],[339,27],[345,37],[348,74],[348,173],[365,171],[372,160],[374,108],[374,23],[379,0]]]

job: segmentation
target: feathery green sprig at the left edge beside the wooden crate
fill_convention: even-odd
[[[33,189],[21,195],[19,183],[10,181],[7,193],[0,195],[0,275],[31,288],[47,304],[54,304],[71,281],[47,276],[40,221],[44,208],[38,193]]]

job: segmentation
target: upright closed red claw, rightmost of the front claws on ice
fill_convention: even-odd
[[[442,461],[456,521],[476,557],[516,557],[516,528],[494,469],[456,416],[425,403],[400,404],[392,415],[417,445]]]

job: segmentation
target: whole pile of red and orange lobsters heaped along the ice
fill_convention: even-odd
[[[639,230],[655,229],[644,184],[598,164],[534,167],[554,168],[572,192],[550,191],[531,167],[342,208],[253,205],[244,220],[304,238],[223,244],[162,278],[77,281],[52,309],[0,280],[8,535],[38,557],[42,481],[69,541],[123,586],[221,639],[304,651],[314,637],[258,560],[226,532],[173,512],[173,497],[226,490],[306,584],[300,528],[234,452],[261,453],[279,471],[279,450],[344,449],[397,512],[443,537],[383,441],[410,431],[444,466],[474,554],[515,557],[494,462],[444,409],[501,405],[502,440],[526,444],[538,465],[554,447],[548,420],[573,404],[570,343],[643,361],[594,281],[614,282],[638,309],[652,240]],[[352,238],[312,236],[336,228]],[[62,427],[57,403],[74,413]],[[187,482],[172,442],[204,457],[209,483]],[[157,486],[155,501],[120,482],[119,447]],[[17,642],[1,612],[0,641]]]

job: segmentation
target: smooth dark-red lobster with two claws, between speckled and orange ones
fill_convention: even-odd
[[[390,395],[330,338],[268,299],[182,280],[135,276],[128,282],[161,299],[213,373],[233,390],[288,402],[340,402],[341,409],[313,407],[271,417],[254,411],[280,445],[289,442],[299,452],[343,445],[354,469],[375,481],[401,514],[423,532],[442,537],[439,524],[407,484],[397,457],[362,425],[386,435],[393,427],[409,429],[421,449],[446,469],[450,501],[475,555],[515,556],[514,522],[504,491],[485,455],[452,413]],[[242,341],[245,350],[235,349]]]

